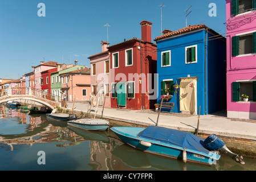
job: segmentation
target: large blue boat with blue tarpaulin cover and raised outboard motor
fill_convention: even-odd
[[[221,157],[218,150],[227,149],[225,143],[214,134],[204,140],[189,132],[159,126],[149,126],[146,129],[112,127],[111,130],[132,147],[152,154],[182,159],[184,163],[188,161],[212,166]],[[228,149],[226,151],[230,152]],[[238,155],[233,156],[239,158]],[[239,160],[242,163],[242,156]]]

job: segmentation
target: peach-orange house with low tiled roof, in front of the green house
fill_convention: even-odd
[[[75,71],[60,73],[62,78],[62,92],[67,93],[69,101],[89,100],[91,93],[90,69],[85,67]]]

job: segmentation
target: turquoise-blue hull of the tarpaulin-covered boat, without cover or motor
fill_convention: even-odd
[[[137,135],[144,130],[144,128],[137,127],[126,127],[128,129],[125,133],[119,130],[119,128],[124,127],[112,127],[111,130],[119,137],[123,142],[129,144],[130,146],[149,152],[156,155],[167,156],[170,158],[184,159],[183,152],[184,148],[178,146],[172,146],[170,144],[165,144],[161,142],[156,142],[155,140],[141,139],[137,138]],[[144,142],[144,143],[143,143]],[[145,143],[148,143],[145,144]],[[149,144],[150,143],[150,144]],[[186,150],[186,161],[193,163],[200,163],[211,166],[220,159],[216,154],[203,154],[202,152],[197,152],[193,150]]]

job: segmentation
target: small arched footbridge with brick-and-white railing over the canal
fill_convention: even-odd
[[[30,100],[38,102],[49,109],[62,106],[62,98],[32,88],[7,88],[0,90],[0,104],[8,101]]]

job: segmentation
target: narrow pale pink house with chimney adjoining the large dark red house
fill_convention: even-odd
[[[111,107],[110,83],[111,69],[109,64],[108,42],[101,41],[101,52],[88,57],[91,64],[91,89],[92,94],[97,96],[99,105]]]

